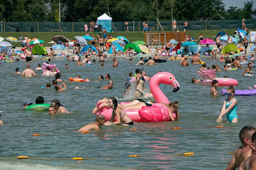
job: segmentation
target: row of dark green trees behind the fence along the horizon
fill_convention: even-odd
[[[60,0],[61,22],[251,19],[253,1],[225,10],[222,0]],[[0,0],[3,22],[59,22],[59,0]]]

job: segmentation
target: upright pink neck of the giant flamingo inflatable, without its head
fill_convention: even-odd
[[[164,76],[161,76],[161,78],[164,78]],[[157,103],[167,103],[169,104],[168,98],[164,95],[162,90],[160,89],[159,85],[161,82],[161,78],[154,78],[154,76],[151,78],[149,87],[152,92],[152,95],[154,96]]]

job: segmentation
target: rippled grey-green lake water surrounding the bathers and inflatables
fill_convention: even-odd
[[[0,139],[2,157],[46,158],[95,158],[93,160],[17,160],[28,163],[67,167],[90,167],[90,169],[224,169],[232,158],[233,152],[240,144],[239,131],[245,125],[255,125],[255,96],[236,97],[238,100],[237,113],[239,122],[216,123],[221,111],[224,96],[211,97],[210,86],[192,84],[191,78],[200,78],[196,70],[200,65],[181,67],[179,61],[159,63],[159,66],[146,66],[148,76],[152,77],[159,71],[171,72],[175,75],[181,88],[172,92],[172,86],[160,85],[160,88],[170,101],[179,100],[181,119],[174,122],[138,123],[127,126],[102,126],[99,131],[81,134],[74,132],[82,126],[95,121],[91,111],[96,102],[103,97],[117,97],[118,102],[128,101],[123,97],[125,79],[129,72],[142,66],[133,66],[127,59],[117,59],[119,67],[108,67],[112,60],[108,59],[101,68],[99,63],[92,66],[77,66],[76,62],[66,60],[52,60],[61,71],[61,79],[68,80],[80,74],[82,78],[90,78],[90,82],[67,82],[67,90],[56,92],[53,88],[40,88],[51,83],[52,77],[37,76],[33,78],[14,75],[16,67],[21,72],[26,68],[26,62],[2,63],[0,66],[2,104],[0,111],[4,125],[0,125]],[[134,59],[136,63],[139,59]],[[223,69],[224,63],[203,59],[208,66],[219,64]],[[31,68],[35,69],[43,60],[35,60]],[[69,69],[65,69],[65,64]],[[255,68],[252,68],[255,72]],[[222,78],[227,75],[239,82],[235,89],[247,89],[256,84],[255,77],[242,76],[244,69],[217,72]],[[35,71],[41,75],[41,71]],[[98,76],[109,73],[114,81],[114,89],[99,90],[95,87],[107,85],[107,80],[98,81]],[[75,87],[89,89],[75,89]],[[221,89],[218,92],[220,94]],[[226,87],[227,88],[227,87]],[[30,99],[35,104],[35,98],[44,97],[45,103],[58,99],[71,114],[49,116],[48,113],[23,111],[22,104]],[[145,100],[153,100],[148,98]],[[224,117],[223,117],[224,119]],[[216,125],[232,126],[228,128],[204,128]],[[173,127],[196,128],[173,130]],[[130,131],[130,128],[138,131]],[[33,133],[49,134],[45,136],[24,136]],[[194,152],[194,156],[173,156]],[[128,157],[137,154],[147,157]]]

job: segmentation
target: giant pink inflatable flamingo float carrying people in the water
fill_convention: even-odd
[[[178,81],[176,81],[174,75],[169,72],[160,72],[155,74],[150,82],[149,87],[154,96],[157,103],[152,106],[143,106],[141,109],[124,109],[125,113],[136,122],[164,122],[164,121],[172,121],[169,117],[168,108],[160,103],[169,104],[168,98],[163,94],[161,89],[159,88],[159,84],[169,84],[174,89],[173,92],[177,92],[180,89],[180,85]],[[122,102],[127,103],[127,102]],[[102,104],[97,105],[99,108]],[[110,120],[113,109],[105,107],[100,109],[96,115],[101,114],[105,116],[105,121]],[[172,113],[174,119],[176,119],[176,114]],[[114,120],[115,121],[115,120]]]

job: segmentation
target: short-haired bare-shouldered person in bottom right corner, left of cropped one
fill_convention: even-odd
[[[251,126],[245,126],[242,128],[242,130],[240,130],[239,138],[242,142],[242,146],[236,148],[226,170],[236,169],[244,160],[251,156],[251,138],[252,134],[254,134],[255,132],[256,129]]]

